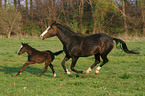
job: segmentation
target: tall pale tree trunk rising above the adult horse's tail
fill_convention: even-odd
[[[122,11],[123,11],[125,36],[127,37],[128,36],[128,27],[127,27],[127,19],[126,19],[126,12],[125,12],[125,0],[122,1]]]

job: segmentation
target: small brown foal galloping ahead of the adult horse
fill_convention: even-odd
[[[39,75],[42,76],[44,72],[46,72],[47,67],[51,68],[54,77],[56,76],[56,73],[53,69],[53,65],[51,62],[54,60],[55,55],[59,55],[63,52],[63,50],[60,50],[58,52],[52,53],[51,51],[38,51],[35,48],[32,48],[27,43],[22,43],[22,46],[20,47],[19,51],[17,52],[18,55],[21,55],[22,53],[27,52],[28,53],[28,61],[23,65],[22,69],[14,76],[21,75],[21,72],[30,64],[35,63],[43,63],[45,62],[45,67],[43,69],[43,72]]]

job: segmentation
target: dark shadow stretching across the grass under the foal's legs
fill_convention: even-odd
[[[22,67],[8,67],[8,66],[2,66],[2,65],[0,65],[0,72],[4,72],[4,74],[10,74],[12,77],[14,77],[15,74],[18,73],[21,68]],[[39,76],[42,73],[43,69],[33,68],[31,66],[28,66],[26,69],[24,69],[22,71],[22,74],[21,75],[23,75],[23,73],[25,71],[26,72],[29,72],[31,74],[34,74],[36,76]],[[46,73],[49,73],[49,74],[46,74]],[[47,76],[47,77],[52,77],[53,76],[53,73],[52,73],[51,69],[48,67],[48,70],[43,75],[44,76]]]

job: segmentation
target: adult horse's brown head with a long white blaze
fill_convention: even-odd
[[[53,22],[41,35],[41,39],[44,40],[45,38],[53,37],[56,35],[56,21]]]

